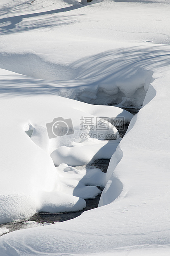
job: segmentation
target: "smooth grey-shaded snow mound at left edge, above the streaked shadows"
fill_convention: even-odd
[[[74,69],[68,65],[49,61],[44,55],[33,51],[28,52],[1,52],[0,66],[16,73],[38,79],[70,80],[74,76]]]

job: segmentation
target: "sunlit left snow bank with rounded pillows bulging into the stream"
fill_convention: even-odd
[[[2,69],[0,75],[2,81],[5,78],[9,83],[11,80],[17,83],[18,77],[23,78]],[[20,95],[11,93],[6,97],[1,90],[0,105],[4,111],[0,127],[3,134],[0,144],[0,223],[28,219],[37,211],[54,213],[83,209],[84,198],[95,197],[100,192],[90,181],[88,184],[83,182],[83,177],[101,176],[101,171],[90,169],[88,174],[76,171],[73,175],[73,169],[68,182],[70,172],[65,170],[67,165],[56,168],[54,164],[76,166],[111,157],[120,139],[117,139],[118,130],[108,121],[119,120],[122,116],[125,122],[129,122],[132,114],[118,107],[92,106],[55,95],[26,97],[18,92]],[[67,125],[68,134],[58,136],[55,128],[52,131],[56,119]],[[93,139],[94,135],[102,138]],[[108,135],[114,135],[116,140],[104,140]],[[105,185],[105,178],[101,177]]]

